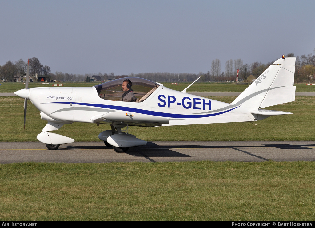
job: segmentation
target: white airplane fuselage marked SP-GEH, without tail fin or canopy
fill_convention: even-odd
[[[25,91],[20,91],[18,91],[20,94],[26,94]],[[163,124],[162,121],[162,125],[254,120],[254,116],[241,106],[233,106],[229,103],[171,90],[163,85],[160,85],[140,103],[102,99],[94,86],[41,87],[30,88],[28,91],[29,96],[27,98],[41,112],[42,119],[48,122],[101,122],[111,124],[111,121],[99,121],[97,117],[106,113],[121,111],[133,115],[149,116],[149,120],[152,118],[152,122],[159,117],[169,119],[168,124]],[[128,121],[121,122],[126,124],[125,122]]]

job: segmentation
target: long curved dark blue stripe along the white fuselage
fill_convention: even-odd
[[[196,114],[196,115],[189,115],[189,114],[172,114],[172,113],[164,113],[164,112],[155,112],[155,111],[148,111],[148,110],[142,110],[139,108],[129,108],[129,107],[121,107],[121,106],[116,106],[116,105],[108,105],[108,104],[90,104],[90,103],[78,103],[78,102],[49,102],[46,104],[79,104],[79,105],[85,105],[85,106],[92,106],[92,107],[99,107],[99,108],[110,108],[110,109],[116,109],[119,111],[127,111],[127,112],[136,112],[136,113],[141,113],[141,114],[147,114],[147,115],[153,115],[153,116],[161,116],[161,117],[169,117],[169,118],[203,118],[203,117],[209,117],[209,116],[216,116],[220,115],[229,111],[232,111],[237,107],[228,109],[223,112],[219,113],[212,113],[212,114]]]

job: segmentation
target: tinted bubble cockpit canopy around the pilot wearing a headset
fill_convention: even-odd
[[[138,98],[136,102],[144,101],[159,87],[159,85],[153,81],[137,77],[119,78],[104,82],[94,87],[96,88],[100,98],[111,101],[119,101],[124,93],[122,91],[122,85],[123,81],[126,79],[129,79],[132,82],[131,89],[133,90],[135,97]]]

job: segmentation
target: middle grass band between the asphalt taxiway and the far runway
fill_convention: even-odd
[[[230,103],[236,97],[209,97]],[[19,142],[37,141],[47,121],[40,118],[40,113],[28,101],[26,128],[24,122],[24,100],[20,97],[0,97],[0,141]],[[295,101],[268,109],[292,112],[294,114],[272,116],[252,123],[221,123],[205,125],[183,125],[164,127],[129,127],[129,133],[146,141],[308,141],[314,140],[315,125],[313,115],[315,98],[297,96]],[[99,141],[98,134],[109,130],[110,125],[73,123],[64,125],[57,134],[73,137],[76,141]]]

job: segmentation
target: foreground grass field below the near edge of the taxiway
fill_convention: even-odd
[[[2,221],[314,221],[314,162],[0,165]]]

